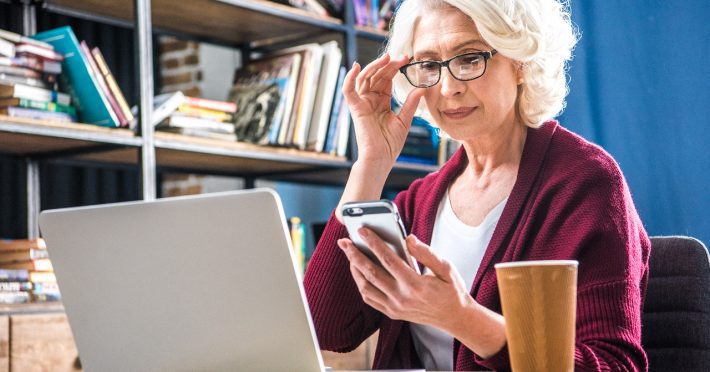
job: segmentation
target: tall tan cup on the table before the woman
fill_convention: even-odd
[[[513,371],[573,371],[577,261],[495,265]]]

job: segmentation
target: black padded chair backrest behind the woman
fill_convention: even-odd
[[[710,371],[710,256],[693,238],[651,238],[642,343],[650,371]]]

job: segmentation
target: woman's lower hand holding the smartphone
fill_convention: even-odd
[[[407,248],[429,268],[424,275],[417,274],[372,230],[361,228],[359,233],[384,268],[367,258],[350,239],[338,240],[338,246],[350,260],[350,271],[365,303],[389,318],[452,330],[459,321],[457,314],[477,305],[456,268],[414,235],[407,238]]]

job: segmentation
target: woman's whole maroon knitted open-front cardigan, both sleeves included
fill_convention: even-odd
[[[407,231],[431,242],[439,203],[467,162],[460,149],[439,171],[397,195]],[[305,275],[321,348],[351,351],[379,329],[373,368],[421,367],[408,323],[391,320],[362,301],[336,244],[346,236],[344,226],[331,216]],[[641,308],[649,249],[626,181],[611,156],[550,121],[528,129],[517,180],[470,293],[500,314],[495,263],[578,260],[575,369],[644,371]],[[482,359],[458,340],[452,346],[456,370],[510,369],[506,347]]]

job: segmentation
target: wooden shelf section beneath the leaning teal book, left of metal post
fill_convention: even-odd
[[[0,115],[0,152],[22,156],[57,156],[112,148],[140,148],[128,129],[90,124],[11,118]]]

